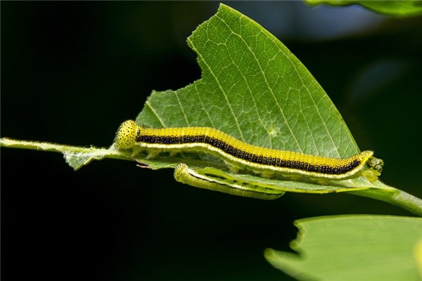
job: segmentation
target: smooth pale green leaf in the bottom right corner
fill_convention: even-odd
[[[422,218],[333,216],[295,225],[298,254],[267,249],[265,258],[298,280],[421,280]]]

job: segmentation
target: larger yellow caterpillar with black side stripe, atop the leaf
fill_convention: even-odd
[[[115,146],[134,148],[135,145],[151,154],[203,151],[221,157],[234,171],[248,169],[266,177],[343,180],[365,176],[369,181],[376,181],[383,169],[383,160],[373,157],[370,150],[347,158],[330,158],[250,145],[210,127],[153,129],[127,120],[117,131]]]

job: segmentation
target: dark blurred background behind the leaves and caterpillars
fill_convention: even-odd
[[[381,179],[422,197],[422,18],[300,1],[228,2],[276,35],[331,97]],[[151,91],[200,78],[186,38],[218,2],[1,2],[1,136],[108,146]],[[73,171],[1,149],[5,280],[293,280],[264,260],[298,218],[411,216],[347,194],[273,202],[191,188],[106,159]]]

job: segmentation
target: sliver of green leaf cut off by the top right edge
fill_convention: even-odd
[[[367,0],[305,0],[307,4],[328,4],[331,6],[347,6],[357,4],[376,13],[395,17],[410,17],[422,15],[422,2],[420,0],[406,1],[367,1]]]

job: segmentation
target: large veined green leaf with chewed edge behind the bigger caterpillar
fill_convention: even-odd
[[[152,127],[211,126],[241,141],[267,148],[328,157],[359,152],[349,129],[324,89],[298,58],[276,37],[245,15],[221,5],[216,15],[188,37],[198,55],[202,78],[177,91],[154,91],[136,119]],[[145,157],[137,160],[153,169],[184,162],[191,169],[224,168],[219,159]],[[240,175],[241,176],[241,175]],[[255,176],[255,181],[267,181]],[[303,183],[289,191],[375,188],[364,178],[337,186]],[[321,188],[322,186],[322,188]]]

